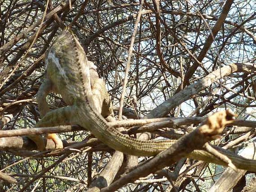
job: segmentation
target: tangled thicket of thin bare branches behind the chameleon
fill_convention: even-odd
[[[252,108],[256,106],[255,73],[241,69],[225,74],[220,70],[232,63],[255,62],[254,0],[2,0],[0,6],[2,130],[31,128],[38,121],[35,95],[44,78],[44,55],[65,26],[72,28],[89,60],[97,65],[116,111],[122,90],[126,89],[123,115],[127,118],[142,118],[146,114],[148,118],[203,117],[228,107],[235,110],[238,118],[255,119]],[[129,53],[130,46],[132,53]],[[188,92],[187,97],[173,97],[189,85],[203,82],[206,75],[216,70],[219,78],[212,79],[206,88],[194,87],[194,92]],[[61,97],[53,93],[48,102],[51,109],[65,106]],[[197,124],[147,131],[156,137],[177,139],[193,126]],[[244,142],[255,136],[251,128],[237,127],[237,131],[233,128],[227,128],[216,145],[238,151],[244,147]],[[133,130],[134,133],[138,132]],[[84,140],[88,133],[74,131],[60,135],[72,143]],[[150,139],[150,134],[137,134],[137,137]],[[18,183],[0,180],[0,191],[31,191],[33,188],[36,191],[85,191],[89,185],[103,188],[138,162],[136,157],[124,158],[117,152],[113,155],[111,149],[99,142],[90,147],[84,145],[79,148],[81,151],[64,152],[61,156],[48,154],[44,158],[25,158],[37,153],[24,151],[24,146],[17,146],[21,144],[19,138],[16,139],[10,141],[12,148],[0,146],[3,150],[0,168],[5,168],[2,172],[13,176]],[[136,181],[120,191],[209,191],[223,171],[222,167],[213,164],[184,162],[182,159],[157,173],[135,178]],[[120,166],[119,172],[114,173]],[[237,180],[223,174],[222,180],[232,178],[223,182],[230,184],[223,191],[233,187],[234,190],[242,189],[246,185],[245,173]],[[92,182],[96,178],[98,182]],[[103,184],[102,178],[105,178]],[[221,182],[215,183],[211,190],[220,187],[223,187]]]

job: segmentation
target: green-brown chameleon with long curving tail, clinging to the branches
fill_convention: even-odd
[[[83,47],[70,29],[63,30],[49,47],[45,63],[47,78],[38,90],[37,96],[42,119],[38,121],[36,127],[78,124],[110,148],[136,156],[157,155],[176,142],[175,140],[138,140],[108,125],[104,116],[111,115],[112,106],[107,89],[103,80],[99,80],[97,75],[96,78],[90,78],[90,70],[92,70],[90,62],[87,61]],[[99,86],[94,86],[97,82]],[[45,97],[49,90],[61,94],[69,106],[49,111],[45,107],[47,105]],[[44,150],[45,144],[40,141],[43,140],[41,136],[29,137],[36,143],[38,149]],[[61,146],[56,147],[61,148]],[[226,155],[237,168],[256,171],[256,161],[221,148],[216,149]],[[227,166],[225,162],[204,150],[194,150],[186,157]]]

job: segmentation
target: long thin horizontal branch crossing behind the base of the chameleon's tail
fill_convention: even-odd
[[[198,124],[204,121],[204,117],[191,117],[191,118],[156,118],[156,119],[144,119],[144,120],[128,120],[128,121],[114,121],[109,122],[108,124],[112,127],[132,127],[132,126],[141,126],[130,128],[128,133],[142,133],[145,131],[154,131],[158,128],[163,127],[177,127],[182,125]],[[251,131],[252,128],[256,127],[256,121],[246,121],[246,120],[235,120],[234,122],[229,123],[230,126],[243,126],[247,127],[242,131]],[[72,131],[81,131],[84,130],[80,126],[55,126],[55,127],[37,127],[37,128],[27,128],[27,129],[17,129],[17,130],[1,130],[1,137],[13,137],[13,136],[26,136],[31,134],[46,134],[46,133],[65,133]],[[235,134],[232,133],[232,134]]]

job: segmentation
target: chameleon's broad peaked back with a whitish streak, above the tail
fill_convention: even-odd
[[[61,94],[68,105],[82,100],[84,86],[90,85],[90,75],[84,74],[89,73],[89,66],[83,48],[70,30],[64,30],[56,38],[47,52],[45,63],[53,90]]]

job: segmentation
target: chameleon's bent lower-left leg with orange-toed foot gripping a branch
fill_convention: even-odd
[[[62,108],[55,109],[53,111],[48,112],[36,124],[35,127],[53,127],[53,126],[60,126],[60,125],[70,125],[73,122],[74,117],[76,117],[74,106],[62,107]],[[57,134],[47,134],[46,137],[47,139],[53,140],[53,142],[56,145],[56,149],[63,148],[62,140],[57,136]],[[37,148],[40,151],[45,150],[46,144],[44,143],[43,137],[39,135],[29,135],[28,138],[30,138],[36,143]]]

